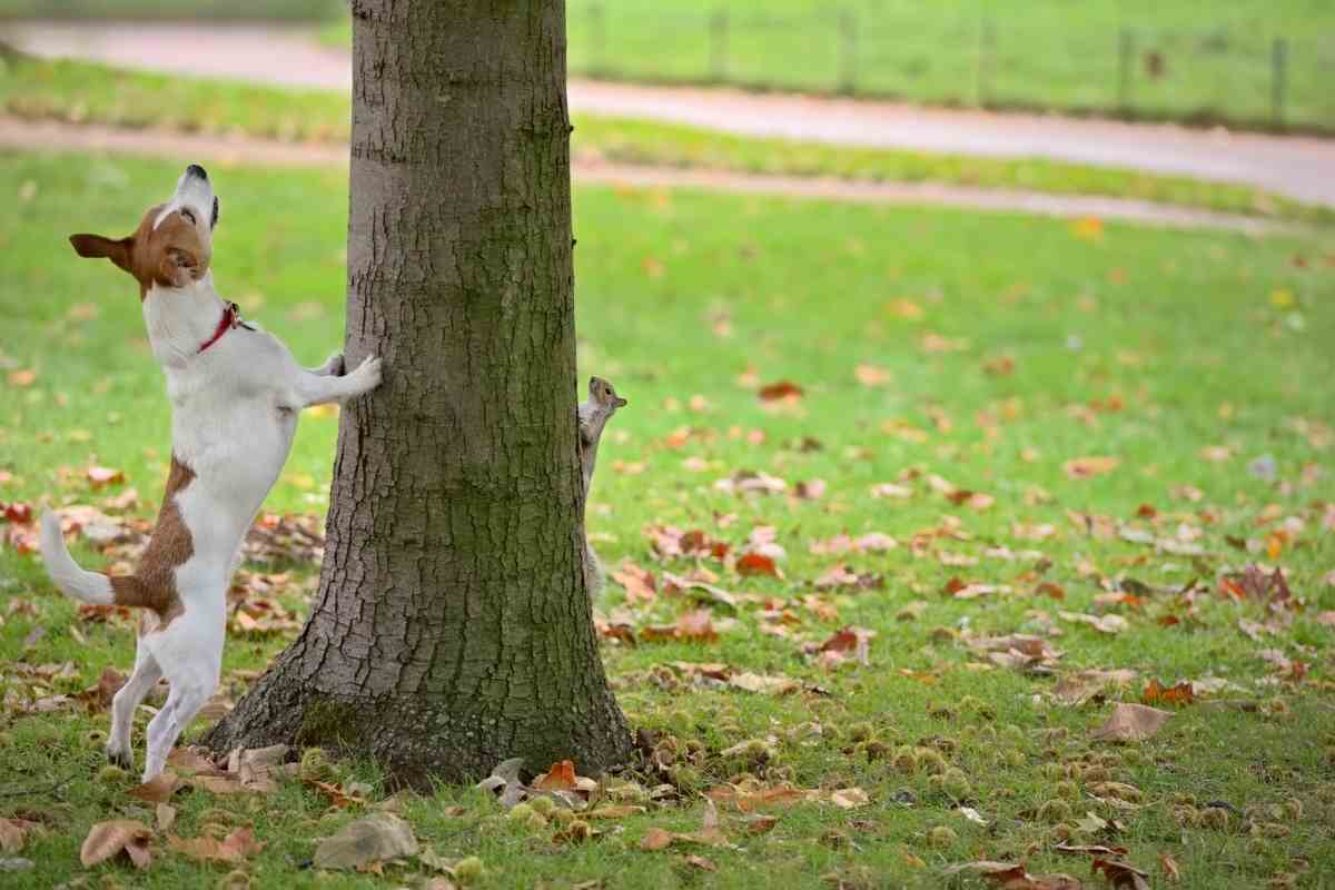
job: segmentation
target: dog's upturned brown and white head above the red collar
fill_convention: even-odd
[[[142,300],[154,286],[183,288],[208,274],[215,226],[218,196],[204,168],[191,164],[171,199],[150,207],[134,235],[71,235],[69,243],[79,256],[104,256],[134,275]]]

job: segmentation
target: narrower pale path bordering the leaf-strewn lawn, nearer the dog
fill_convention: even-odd
[[[279,167],[346,165],[347,145],[282,143],[238,136],[200,136],[154,129],[121,129],[100,124],[25,121],[0,116],[0,148],[41,151],[105,151],[223,164]],[[1302,231],[1248,216],[1193,211],[1147,201],[1084,195],[996,191],[933,183],[853,183],[800,176],[752,176],[708,169],[638,167],[575,159],[577,183],[641,188],[702,188],[749,195],[832,199],[864,204],[936,204],[971,209],[1012,211],[1041,216],[1128,220],[1167,228],[1223,228],[1248,235]]]

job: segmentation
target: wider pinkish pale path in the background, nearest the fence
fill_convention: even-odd
[[[0,35],[45,56],[284,85],[346,91],[351,84],[347,53],[319,47],[299,28],[25,23],[0,24]],[[570,105],[757,136],[1184,173],[1335,207],[1335,141],[1319,139],[587,80],[570,83]]]

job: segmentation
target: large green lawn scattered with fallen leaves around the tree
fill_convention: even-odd
[[[0,195],[15,201],[0,216],[4,500],[96,504],[134,486],[143,504],[135,512],[151,515],[170,424],[135,288],[109,264],[73,258],[64,236],[128,228],[176,173],[107,156],[3,156]],[[220,288],[300,360],[320,360],[342,331],[343,173],[216,165],[211,173],[224,203]],[[670,773],[688,793],[681,807],[602,823],[605,834],[583,845],[555,845],[551,829],[517,827],[477,793],[442,787],[405,805],[423,843],[447,859],[481,857],[482,887],[937,887],[944,867],[984,858],[1085,874],[1088,857],[1055,850],[1063,837],[1128,847],[1156,886],[1160,855],[1180,866],[1188,890],[1260,886],[1286,874],[1295,886],[1322,886],[1335,870],[1335,628],[1320,620],[1335,610],[1328,240],[606,188],[578,189],[575,234],[581,374],[607,376],[630,399],[602,444],[594,482],[590,530],[603,559],[682,574],[692,562],[655,564],[646,526],[701,528],[734,548],[754,527],[773,526],[786,550],[785,578],[738,576],[705,560],[720,586],[749,596],[736,614],[716,607],[716,623],[736,618],[736,626],[716,643],[603,648],[634,725],[674,737],[678,750],[700,746],[697,762]],[[877,372],[858,374],[860,366]],[[753,380],[781,379],[805,396],[766,407]],[[335,426],[328,416],[303,419],[268,508],[323,510]],[[1120,464],[1089,479],[1064,472],[1067,460],[1091,455]],[[1274,459],[1274,479],[1247,468],[1263,455]],[[83,468],[92,463],[124,471],[125,483],[91,491]],[[738,470],[789,483],[824,479],[828,490],[802,500],[716,487]],[[956,504],[929,484],[933,474],[995,503]],[[873,486],[896,480],[908,498],[870,496]],[[1183,486],[1199,500],[1183,499]],[[1116,528],[1195,540],[1203,552],[1173,555],[1105,534]],[[900,546],[844,556],[810,550],[870,531]],[[87,546],[77,555],[100,562]],[[1239,622],[1275,615],[1216,592],[1218,575],[1252,560],[1283,566],[1306,600],[1280,615],[1291,624],[1259,642]],[[814,588],[836,563],[881,574],[885,586]],[[307,570],[290,568],[280,595],[299,607]],[[951,596],[943,587],[952,576],[1011,590]],[[1188,610],[1173,591],[1192,578],[1203,587]],[[1052,587],[1041,592],[1040,582],[1056,584],[1063,599],[1049,598]],[[1140,599],[1109,602],[1119,590]],[[789,610],[788,638],[760,632],[768,622],[758,598]],[[914,602],[922,604],[906,608]],[[822,618],[814,606],[837,615]],[[597,607],[635,627],[669,623],[686,608],[666,594],[629,604],[618,584]],[[1128,630],[1101,634],[1060,610],[1117,614]],[[131,632],[77,622],[37,559],[13,550],[0,550],[0,791],[73,774],[57,795],[0,798],[0,815],[27,813],[49,825],[7,854],[37,862],[8,874],[7,886],[49,887],[84,871],[77,850],[93,822],[151,821],[151,811],[125,797],[129,781],[97,775],[99,743],[88,734],[104,731],[107,715],[16,714],[15,702],[44,694],[17,674],[23,664],[68,660],[75,677],[52,681],[52,690],[83,689],[103,667],[129,664]],[[1179,623],[1160,620],[1168,616]],[[800,655],[800,642],[820,642],[845,623],[876,631],[868,666],[826,670]],[[1052,677],[980,669],[987,660],[964,643],[967,632],[1047,635],[1053,626],[1061,635],[1049,644],[1064,652],[1057,675],[1133,669],[1137,681],[1111,691],[1109,702],[1059,706]],[[283,642],[232,636],[226,673],[262,667]],[[1306,678],[1279,678],[1262,656],[1276,648],[1306,663]],[[669,666],[678,660],[785,674],[829,694],[701,687],[677,678]],[[1149,678],[1207,677],[1236,689],[1172,709],[1143,745],[1091,743],[1112,702],[1139,701]],[[776,737],[773,763],[721,754],[766,735]],[[991,825],[967,821],[924,771],[874,757],[868,735],[944,751],[971,786],[956,789],[959,797]],[[140,757],[142,738],[140,722]],[[778,811],[769,834],[748,834],[722,807],[740,849],[638,849],[650,826],[697,829],[702,806],[692,793],[744,771],[801,787],[857,786],[870,803],[848,811],[798,805]],[[1059,785],[1067,774],[1075,778]],[[372,802],[382,797],[372,765],[342,765],[339,775],[370,782]],[[1103,777],[1139,789],[1141,806],[1091,797]],[[1049,819],[1061,815],[1049,805],[1040,818],[1063,794],[1073,795],[1071,815]],[[1227,801],[1246,815],[1208,827],[1183,809],[1188,801]],[[417,862],[388,866],[388,878],[299,867],[315,838],[374,803],[330,811],[296,783],[268,797],[195,791],[176,802],[182,837],[255,826],[268,846],[243,870],[256,887],[396,886],[426,873]],[[1116,825],[1081,829],[1085,811]],[[933,845],[928,833],[940,826],[955,837]],[[227,871],[192,865],[162,838],[155,847],[148,873],[104,865],[92,881],[207,886]],[[717,871],[700,871],[686,853]]]

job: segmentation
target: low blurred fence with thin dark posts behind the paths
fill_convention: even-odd
[[[573,4],[589,76],[1335,132],[1335,35]]]

